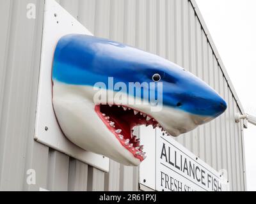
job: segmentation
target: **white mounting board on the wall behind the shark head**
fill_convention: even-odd
[[[60,38],[67,34],[92,35],[76,18],[54,0],[45,1],[44,30],[36,106],[35,140],[102,171],[109,171],[109,159],[83,150],[63,135],[52,106],[52,60]]]

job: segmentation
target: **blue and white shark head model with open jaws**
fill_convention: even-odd
[[[162,107],[152,111],[152,103],[139,103],[144,94],[132,96],[135,103],[96,103],[95,84],[129,87],[129,83],[154,83],[162,97]],[[120,163],[138,166],[145,153],[133,135],[135,126],[152,125],[164,133],[179,136],[225,112],[227,104],[209,85],[183,68],[157,55],[122,43],[93,36],[70,34],[58,42],[54,54],[53,105],[67,138],[82,149],[108,156]],[[158,89],[161,83],[163,89]],[[151,90],[152,91],[152,90]],[[108,92],[108,94],[109,94]],[[105,98],[106,96],[101,96]],[[137,103],[138,102],[138,103]]]

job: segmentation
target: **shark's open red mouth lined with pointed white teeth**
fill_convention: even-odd
[[[143,145],[140,144],[140,139],[133,134],[133,128],[142,125],[153,126],[154,129],[162,128],[154,118],[121,105],[96,105],[95,111],[125,149],[129,150],[140,161],[146,158]]]

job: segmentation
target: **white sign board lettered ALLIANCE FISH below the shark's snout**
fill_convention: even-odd
[[[141,141],[148,140],[149,131],[155,133],[156,138],[150,136],[152,144],[145,147],[146,152],[151,152],[148,160],[140,166],[140,183],[143,186],[156,191],[228,191],[228,182],[223,174],[172,137],[163,136],[159,130],[142,128]]]

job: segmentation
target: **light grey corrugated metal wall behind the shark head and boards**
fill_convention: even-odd
[[[36,4],[36,19],[26,18],[28,3]],[[216,170],[226,169],[231,189],[243,191],[243,124],[234,122],[241,107],[195,1],[58,3],[95,36],[161,55],[220,92],[227,112],[177,140]],[[0,0],[0,189],[137,191],[138,168],[111,161],[104,173],[33,140],[43,14],[42,0]],[[36,185],[26,183],[28,169],[36,170]]]

